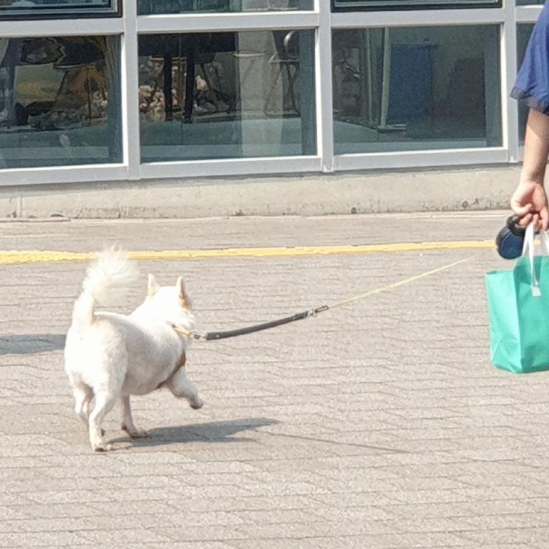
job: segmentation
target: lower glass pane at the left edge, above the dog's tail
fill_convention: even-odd
[[[0,168],[121,161],[119,38],[0,38]]]

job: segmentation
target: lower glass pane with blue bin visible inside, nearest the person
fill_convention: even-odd
[[[336,154],[502,144],[497,25],[333,34]]]

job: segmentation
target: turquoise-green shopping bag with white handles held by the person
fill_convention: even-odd
[[[549,370],[549,236],[533,225],[524,236],[522,257],[513,270],[486,274],[491,362],[514,373]]]

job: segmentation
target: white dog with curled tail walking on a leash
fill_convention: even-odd
[[[88,426],[95,451],[112,448],[103,439],[101,422],[117,401],[122,429],[132,438],[146,436],[132,421],[130,395],[145,395],[166,386],[176,397],[187,399],[191,408],[202,407],[185,373],[189,338],[174,330],[174,326],[184,330],[194,326],[183,278],[161,288],[149,274],[147,297],[129,316],[95,310],[97,304],[117,301],[136,278],[137,268],[123,254],[106,250],[89,266],[84,290],[73,308],[65,370],[75,411]]]

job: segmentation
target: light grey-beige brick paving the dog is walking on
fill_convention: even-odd
[[[0,224],[0,250],[492,238],[506,213]],[[62,346],[85,264],[0,266],[0,547],[546,549],[548,374],[489,364],[493,250],[143,261],[187,281],[201,329],[292,314],[468,257],[286,327],[194,343],[205,406],[162,390],[93,454]]]

